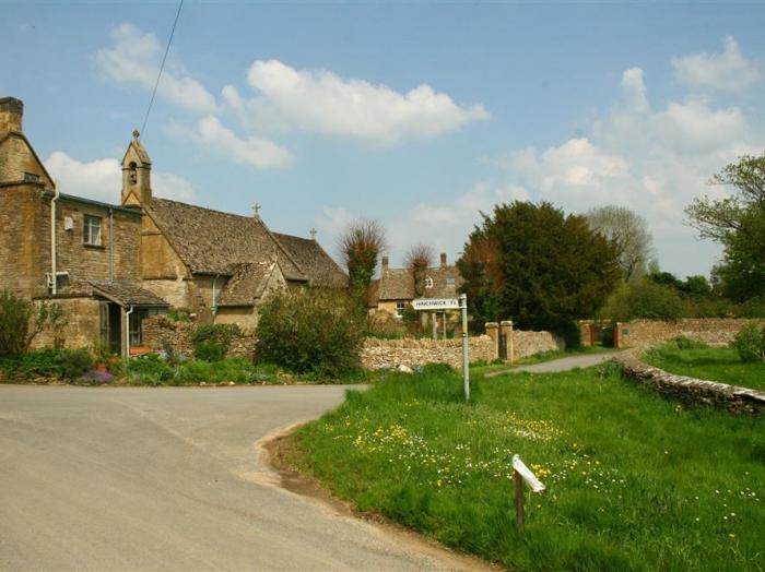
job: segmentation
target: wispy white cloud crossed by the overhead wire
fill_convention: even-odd
[[[111,31],[113,47],[96,52],[99,73],[117,83],[137,84],[153,90],[160,72],[163,48],[154,34],[144,34],[131,24],[121,24]],[[212,112],[215,98],[197,80],[179,70],[165,65],[157,93],[186,109]]]

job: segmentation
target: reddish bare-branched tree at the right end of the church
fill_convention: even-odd
[[[348,269],[351,290],[366,299],[377,259],[386,249],[385,228],[378,221],[351,223],[340,236],[338,249]]]

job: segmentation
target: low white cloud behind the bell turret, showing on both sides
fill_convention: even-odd
[[[115,158],[80,162],[63,151],[54,151],[44,162],[54,179],[61,184],[61,192],[111,204],[119,204],[122,188],[122,168]],[[193,186],[173,172],[152,174],[152,190],[157,196],[190,202],[195,198]]]

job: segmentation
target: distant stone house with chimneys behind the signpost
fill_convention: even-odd
[[[401,319],[413,299],[456,297],[462,283],[457,267],[447,264],[446,253],[442,253],[438,266],[423,273],[419,284],[409,269],[391,269],[388,257],[382,257],[380,277],[369,288],[368,308]]]

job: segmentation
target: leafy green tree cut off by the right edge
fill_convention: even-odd
[[[743,156],[715,175],[710,184],[732,187],[722,199],[696,199],[685,210],[702,238],[725,248],[715,275],[735,301],[765,296],[765,153]]]

